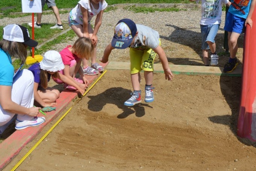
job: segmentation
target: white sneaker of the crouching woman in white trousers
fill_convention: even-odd
[[[20,120],[15,120],[15,129],[20,130],[20,129],[25,129],[28,127],[35,127],[37,125],[41,125],[42,123],[44,123],[45,118],[43,116],[41,117],[34,117],[31,120],[24,120],[24,121],[20,121]]]

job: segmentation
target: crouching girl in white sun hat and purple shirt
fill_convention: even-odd
[[[75,80],[66,77],[58,71],[64,69],[60,53],[57,51],[47,51],[44,54],[43,60],[40,63],[36,63],[28,68],[32,71],[35,77],[34,82],[34,94],[35,102],[39,105],[55,106],[56,99],[60,97],[60,91],[52,87],[48,87],[50,78],[58,78],[62,82],[75,87],[81,94],[84,94],[86,85],[80,83],[76,84]]]

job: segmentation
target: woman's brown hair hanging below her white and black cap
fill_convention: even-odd
[[[21,63],[26,62],[28,56],[27,45],[21,42],[12,42],[9,40],[1,40],[0,47],[8,52],[11,57],[20,58]]]

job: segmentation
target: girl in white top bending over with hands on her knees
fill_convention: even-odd
[[[96,45],[98,43],[97,33],[101,25],[102,15],[107,6],[108,4],[105,0],[80,0],[68,15],[69,26],[76,35],[78,37],[89,37],[94,46],[91,66],[88,65],[87,59],[83,59],[83,71],[86,75],[97,75],[99,71],[104,69],[96,62]],[[94,30],[90,23],[93,16],[96,16]]]

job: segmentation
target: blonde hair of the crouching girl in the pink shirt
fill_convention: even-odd
[[[81,58],[89,59],[92,57],[94,47],[91,39],[88,37],[80,37],[72,46],[72,53],[81,56]]]

